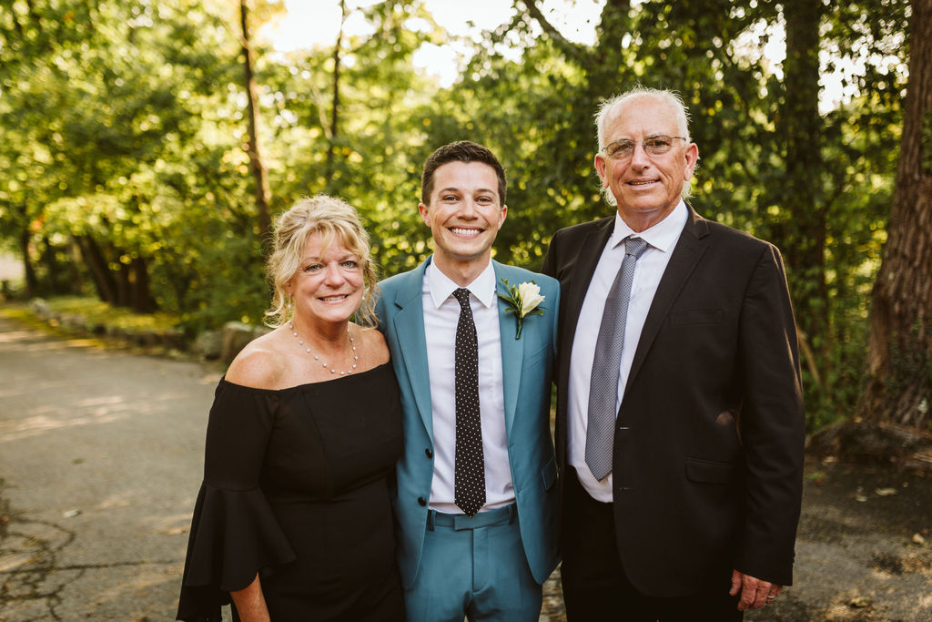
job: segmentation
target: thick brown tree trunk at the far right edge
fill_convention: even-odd
[[[932,0],[913,0],[910,83],[859,419],[928,428],[932,404]]]

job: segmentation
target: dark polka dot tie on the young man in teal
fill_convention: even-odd
[[[459,301],[455,353],[457,452],[454,460],[453,500],[472,517],[486,505],[486,462],[479,419],[479,344],[475,336],[469,290],[453,292]]]

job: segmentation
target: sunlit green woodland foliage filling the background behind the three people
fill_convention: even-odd
[[[471,139],[508,170],[496,257],[538,269],[557,228],[611,214],[593,169],[598,104],[638,83],[678,90],[701,156],[692,204],[787,260],[810,426],[853,412],[896,170],[907,0],[610,0],[592,45],[541,26],[529,3],[475,39],[445,33],[419,0],[391,0],[355,9],[371,28],[339,49],[257,48],[273,213],[340,196],[363,214],[383,274],[409,270],[431,252],[421,163]],[[806,7],[808,29],[789,20]],[[261,321],[233,8],[0,0],[0,243],[27,261],[32,294],[131,306],[147,288],[192,334]],[[253,19],[276,11],[259,3]],[[777,62],[762,50],[781,29],[790,57]],[[805,33],[817,48],[794,47]],[[450,88],[413,64],[445,43],[473,51]],[[818,112],[818,76],[836,68],[851,98]]]

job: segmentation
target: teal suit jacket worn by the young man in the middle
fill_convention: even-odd
[[[400,528],[398,560],[405,589],[412,587],[418,577],[435,453],[421,297],[424,270],[431,259],[428,257],[415,270],[380,283],[382,294],[377,302],[379,329],[389,343],[404,408],[404,452],[397,466],[392,502]],[[512,285],[534,281],[541,286],[541,295],[546,297],[541,304],[543,315],[525,318],[521,339],[514,339],[517,329],[514,313],[506,314],[507,304],[498,299],[508,460],[528,566],[542,584],[559,560],[556,460],[550,434],[550,387],[559,283],[543,274],[497,261],[492,264],[497,292],[507,293],[502,278]]]

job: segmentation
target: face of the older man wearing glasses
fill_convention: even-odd
[[[637,143],[630,159],[610,159],[596,154],[596,171],[602,186],[618,202],[618,213],[636,231],[651,228],[677,206],[683,184],[692,177],[699,150],[686,141],[674,140],[673,148],[660,155],[644,151],[649,136],[683,136],[671,104],[648,94],[632,97],[611,111],[605,125],[605,144],[619,140]]]

